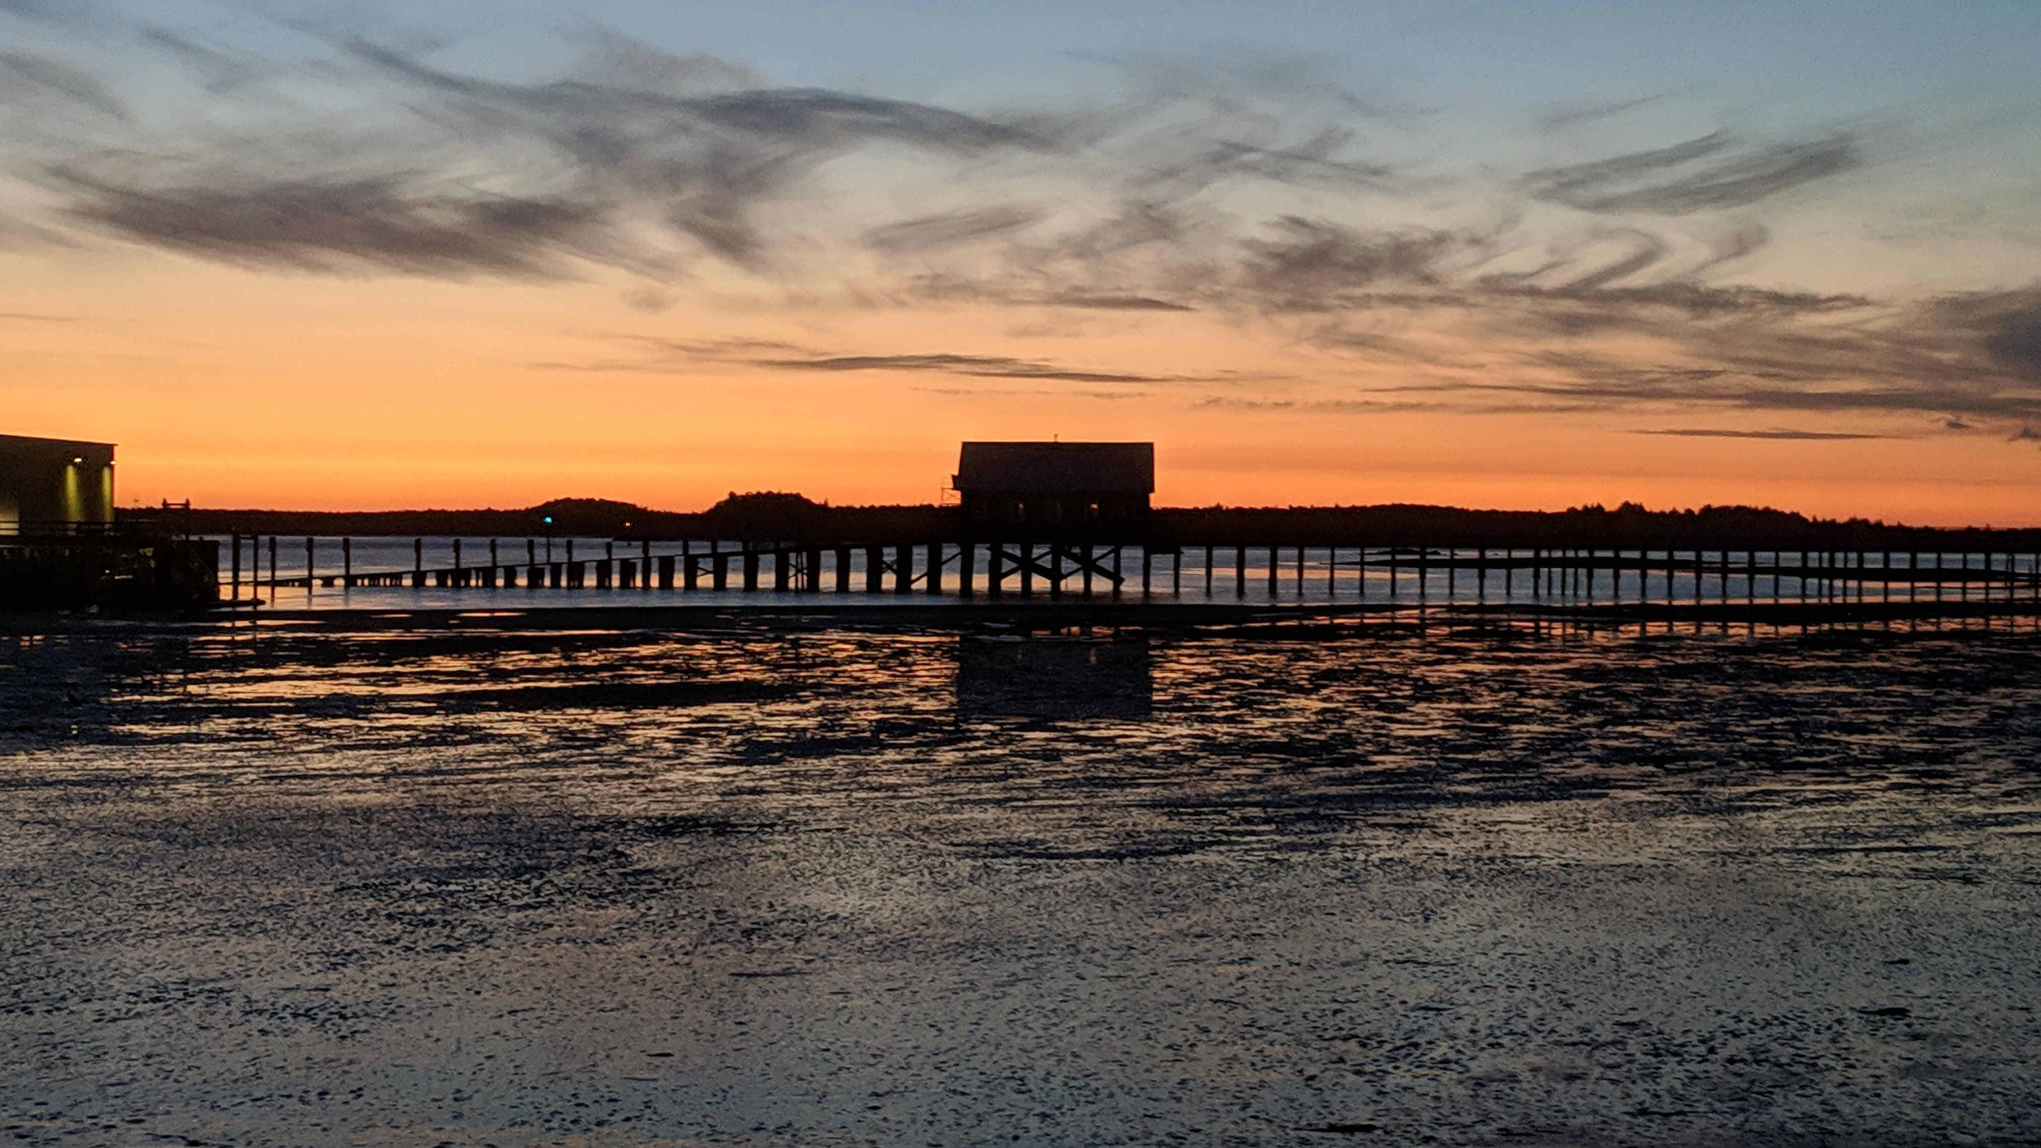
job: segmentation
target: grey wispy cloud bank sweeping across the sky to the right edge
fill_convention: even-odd
[[[1296,406],[1218,394],[1214,411],[2041,423],[2041,290],[1892,302],[1731,280],[1774,243],[1774,208],[1876,161],[1874,129],[1725,125],[1657,145],[1627,131],[1598,147],[1608,121],[1667,102],[1639,96],[1545,114],[1557,159],[1455,168],[1423,112],[1308,61],[1131,61],[1123,92],[961,108],[776,84],[606,33],[582,33],[580,63],[510,82],[331,27],[294,27],[316,49],[284,61],[47,0],[0,12],[43,29],[0,51],[0,176],[37,192],[6,204],[24,212],[10,241],[118,239],[318,274],[620,268],[647,310],[714,280],[847,306],[1225,323],[1327,388],[1347,368],[1357,378]],[[200,94],[157,104],[196,110],[143,123],[122,67],[94,47],[114,39]],[[702,364],[1102,392],[1212,382],[1049,357],[655,341],[545,366]],[[1390,370],[1408,382],[1384,388]]]

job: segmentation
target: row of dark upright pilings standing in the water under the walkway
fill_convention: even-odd
[[[488,564],[478,562],[467,564],[465,539],[449,537],[451,564],[429,568],[425,562],[425,539],[412,537],[412,568],[384,570],[355,574],[353,568],[353,537],[341,537],[339,570],[320,570],[318,556],[318,535],[304,535],[304,572],[302,580],[308,592],[314,592],[320,584],[327,586],[445,586],[445,588],[496,588],[496,586],[516,586],[518,566],[504,564],[504,554],[496,537],[486,539],[488,543]],[[551,541],[551,539],[549,539]],[[825,554],[833,560],[835,592],[851,592],[855,582],[855,562],[859,545],[865,554],[865,584],[867,592],[878,592],[888,588],[886,572],[892,570],[892,592],[910,594],[914,592],[914,582],[925,580],[920,590],[929,596],[941,596],[949,590],[949,566],[955,562],[957,568],[957,594],[976,596],[980,592],[980,570],[978,570],[978,549],[986,549],[986,584],[984,590],[992,596],[1000,596],[1006,590],[1006,578],[1018,574],[1018,590],[1023,596],[1033,596],[1037,574],[1047,580],[1047,592],[1051,599],[1061,601],[1065,590],[1076,592],[1082,586],[1086,601],[1094,594],[1096,576],[1106,574],[1112,584],[1112,596],[1118,599],[1129,586],[1129,576],[1123,574],[1127,564],[1127,543],[1100,545],[1096,541],[1014,541],[1014,543],[978,543],[978,541],[886,541],[886,543],[835,543],[835,545],[808,545],[808,543],[753,543],[743,541],[735,549],[725,552],[720,543],[710,541],[708,552],[696,552],[692,541],[682,541],[680,556],[674,554],[653,554],[651,539],[639,539],[633,558],[614,558],[616,543],[604,543],[604,558],[578,560],[574,554],[574,539],[561,539],[565,545],[565,562],[539,562],[537,539],[525,539],[527,564],[525,564],[525,584],[529,588],[555,586],[555,588],[637,588],[651,590],[653,578],[657,576],[657,588],[698,588],[700,572],[706,560],[714,574],[714,584],[718,590],[727,588],[727,568],[735,562],[743,564],[743,588],[757,590],[761,562],[769,556],[774,562],[771,588],[778,592],[823,592],[829,580],[825,572]],[[245,543],[253,543],[249,554]],[[249,588],[259,588],[263,584],[261,572],[261,543],[263,535],[243,535],[231,531],[229,535],[229,576],[231,594],[241,596],[243,574],[247,574]],[[269,572],[267,584],[271,590],[280,590],[286,584],[282,576],[282,556],[280,556],[280,535],[267,535],[269,549]],[[629,545],[629,543],[627,543]],[[1204,586],[1206,596],[1214,590],[1218,572],[1218,552],[1225,549],[1216,543],[1204,545]],[[1286,554],[1286,545],[1294,545],[1296,552]],[[1157,547],[1141,543],[1139,556],[1139,576],[1141,576],[1141,596],[1149,601],[1157,590],[1169,592],[1174,599],[1182,599],[1184,592],[1184,545],[1163,545],[1159,547],[1161,558],[1169,558],[1169,582],[1167,586],[1157,584]],[[1284,596],[1284,574],[1292,574],[1296,580],[1298,601],[1304,599],[1306,586],[1310,584],[1310,545],[1308,543],[1235,543],[1233,547],[1233,578],[1235,596],[1247,596],[1247,576],[1249,576],[1249,549],[1265,549],[1267,554],[1267,594],[1270,601],[1282,601]],[[1359,601],[1367,601],[1367,580],[1370,568],[1376,558],[1370,554],[1367,545],[1325,545],[1325,594],[1327,601],[1339,601],[1343,592],[1339,572],[1343,566],[1355,568],[1355,594]],[[1784,605],[1786,601],[1814,605],[1814,603],[1865,603],[1880,601],[1892,603],[1902,594],[1896,582],[1904,580],[1904,601],[1925,599],[1923,588],[1933,590],[1933,601],[1972,601],[1982,599],[1992,601],[2041,601],[2041,554],[2023,554],[2019,549],[1963,549],[1955,554],[1955,562],[1949,562],[1949,554],[1933,552],[1933,564],[1927,562],[1927,552],[1894,552],[1894,549],[1843,549],[1843,547],[1804,547],[1798,552],[1759,552],[1757,547],[1745,547],[1741,554],[1731,545],[1719,545],[1712,554],[1704,543],[1680,547],[1641,547],[1635,554],[1623,547],[1610,552],[1598,549],[1547,549],[1547,547],[1502,547],[1490,549],[1486,545],[1467,547],[1429,547],[1414,545],[1402,547],[1384,545],[1380,562],[1388,568],[1388,601],[1398,601],[1402,594],[1402,574],[1404,566],[1412,568],[1416,576],[1416,599],[1429,601],[1431,596],[1431,572],[1437,562],[1445,566],[1445,586],[1443,592],[1447,601],[1459,594],[1459,572],[1467,570],[1474,574],[1476,601],[1486,605],[1492,601],[1510,603],[1519,594],[1529,594],[1531,601],[1563,599],[1563,601],[1586,601],[1586,605],[1596,605],[1598,601],[1598,576],[1602,570],[1610,576],[1610,599],[1614,605],[1627,605],[1635,601],[1637,605],[1682,605],[1692,603],[1696,607],[1719,603],[1729,605],[1737,599],[1735,580],[1743,578],[1743,603],[1755,607],[1761,601],[1759,582],[1770,574],[1772,580],[1772,603]],[[625,554],[631,554],[627,549]],[[1106,566],[1106,556],[1110,554],[1110,566]],[[1347,556],[1351,554],[1351,562]],[[1872,566],[1872,556],[1878,556],[1878,564]],[[1904,556],[1904,564],[1900,558]],[[247,564],[243,566],[243,558]],[[1284,562],[1294,562],[1294,570],[1284,570]],[[916,570],[916,564],[923,564]],[[594,566],[594,580],[588,578],[588,568]],[[678,568],[678,578],[676,578]],[[1523,588],[1516,584],[1519,568],[1525,570],[1527,582]],[[657,574],[655,574],[657,572]],[[1625,586],[1625,576],[1635,572],[1637,586],[1635,599],[1627,599],[1631,588]],[[406,578],[408,574],[408,578]],[[1500,588],[1490,586],[1490,574],[1500,576]],[[1663,576],[1663,596],[1659,588],[1651,584],[1653,576]],[[1794,594],[1786,594],[1786,578],[1794,578]],[[1067,586],[1076,578],[1080,586]],[[1680,586],[1680,578],[1692,578],[1690,588]],[[1714,578],[1714,586],[1708,586],[1708,578]],[[1874,588],[1870,582],[1878,580]],[[325,580],[325,582],[320,582]],[[431,582],[427,582],[431,580]],[[300,574],[292,574],[288,584],[296,586]],[[1949,588],[1955,592],[1949,594]],[[1492,599],[1492,590],[1500,592],[1500,599]]]

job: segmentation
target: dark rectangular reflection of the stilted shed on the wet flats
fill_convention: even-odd
[[[1145,635],[965,635],[959,717],[1145,719],[1155,678]]]

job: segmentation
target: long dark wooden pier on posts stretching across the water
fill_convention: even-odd
[[[292,539],[298,541],[298,539]],[[486,554],[357,570],[353,539],[298,547],[235,535],[222,588],[641,590],[771,594],[931,594],[986,599],[1186,599],[1355,603],[1761,605],[2041,601],[2041,554],[1898,549],[1570,549],[1282,545],[1239,541],[900,539],[629,541],[490,539]],[[561,554],[553,554],[559,549]],[[522,552],[522,554],[518,554]],[[284,570],[282,554],[298,570]],[[267,560],[267,572],[263,572]],[[1186,562],[1188,560],[1188,562]]]

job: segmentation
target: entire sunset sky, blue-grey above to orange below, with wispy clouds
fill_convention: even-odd
[[[0,433],[120,503],[2041,525],[2041,4],[0,0]]]

